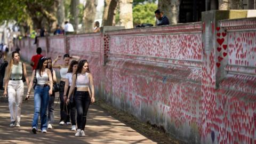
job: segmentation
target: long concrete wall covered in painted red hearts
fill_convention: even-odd
[[[248,13],[209,11],[198,23],[39,38],[38,46],[53,58],[87,59],[97,98],[183,141],[256,143],[256,18]],[[19,43],[24,58],[35,53],[28,41]]]

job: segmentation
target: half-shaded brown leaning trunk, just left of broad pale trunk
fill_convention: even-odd
[[[104,11],[102,16],[102,24],[101,26],[112,26],[114,15],[115,15],[115,9],[117,6],[116,0],[105,0],[104,1]]]

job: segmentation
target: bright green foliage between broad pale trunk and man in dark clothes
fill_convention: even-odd
[[[141,23],[151,23],[155,24],[155,13],[157,9],[157,4],[146,3],[137,4],[133,7],[133,24],[139,25]]]

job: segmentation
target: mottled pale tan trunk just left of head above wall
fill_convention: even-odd
[[[87,0],[84,9],[83,30],[85,33],[93,31],[93,24],[96,15],[98,0]]]

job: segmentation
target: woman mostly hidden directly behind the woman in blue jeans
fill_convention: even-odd
[[[57,83],[55,70],[52,69],[52,58],[51,57],[49,57],[47,59],[47,66],[51,70],[53,84]],[[47,129],[52,129],[52,124],[54,123],[54,99],[55,99],[55,92],[52,92],[52,95],[50,95],[49,103],[48,103],[48,118],[47,118],[48,126],[47,126]]]

